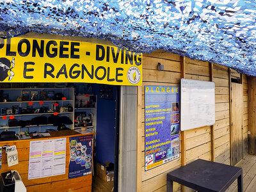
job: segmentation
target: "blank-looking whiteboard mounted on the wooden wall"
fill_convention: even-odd
[[[181,79],[180,130],[215,124],[215,83]]]

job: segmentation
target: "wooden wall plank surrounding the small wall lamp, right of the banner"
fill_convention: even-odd
[[[170,61],[143,56],[143,69],[157,70],[158,63],[164,65],[164,71],[180,72],[180,61]]]

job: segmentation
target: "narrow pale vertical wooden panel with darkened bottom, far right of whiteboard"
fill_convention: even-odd
[[[232,163],[243,159],[243,84],[232,83]]]

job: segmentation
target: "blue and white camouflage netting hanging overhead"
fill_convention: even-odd
[[[245,0],[3,0],[0,36],[30,31],[157,49],[256,76],[256,2]]]

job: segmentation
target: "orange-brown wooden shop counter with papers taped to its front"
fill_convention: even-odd
[[[22,181],[27,188],[28,192],[38,191],[92,191],[92,174],[85,175],[83,177],[77,177],[74,179],[68,179],[68,166],[70,160],[70,147],[69,138],[72,136],[79,135],[90,135],[95,134],[91,132],[88,134],[80,134],[74,130],[68,131],[56,131],[50,132],[51,136],[42,137],[40,139],[29,139],[29,140],[15,140],[15,141],[0,141],[0,147],[4,145],[16,145],[19,164],[8,167],[6,161],[5,150],[2,151],[2,169],[0,173],[8,172],[10,170],[17,170],[22,177]],[[35,140],[47,140],[55,138],[67,138],[66,141],[66,173],[63,175],[57,175],[52,177],[44,177],[40,179],[29,179],[28,180],[28,166],[29,166],[29,144],[30,141]]]

